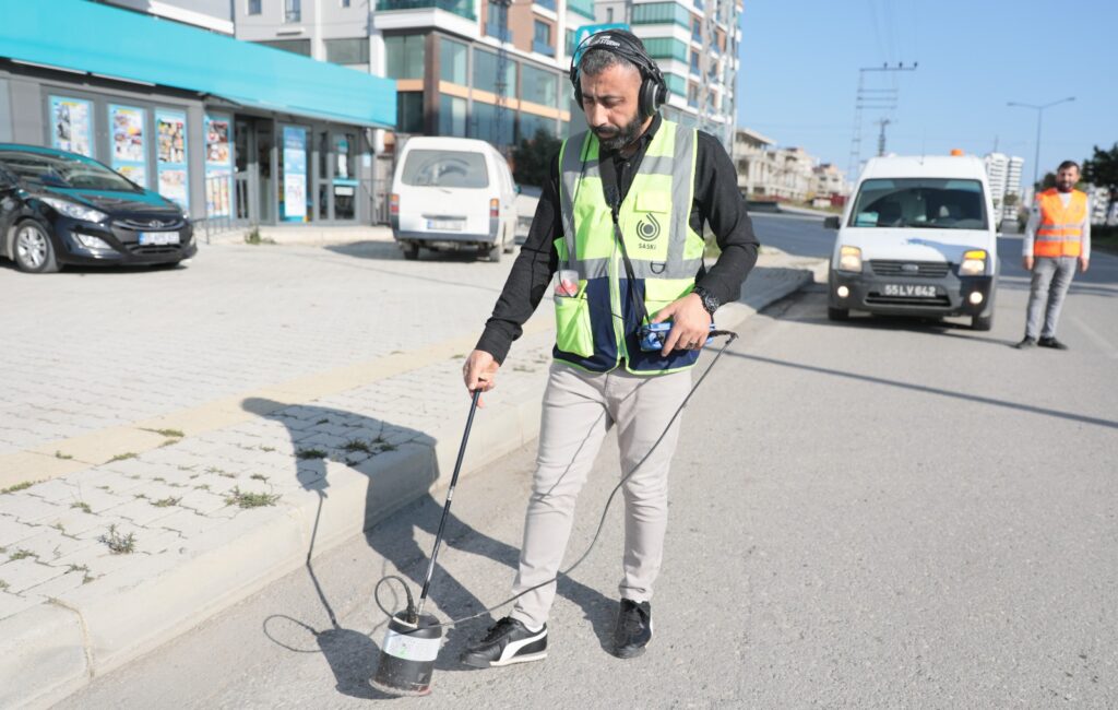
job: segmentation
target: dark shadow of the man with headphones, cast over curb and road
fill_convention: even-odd
[[[423,531],[434,538],[438,531],[444,503],[427,494],[392,513],[375,528],[369,528],[370,523],[375,522],[381,513],[386,503],[377,496],[378,485],[375,476],[378,462],[376,458],[378,455],[394,451],[401,439],[428,446],[434,446],[435,439],[416,429],[391,425],[352,411],[314,405],[285,406],[283,403],[268,399],[249,398],[243,403],[243,408],[273,422],[278,422],[286,427],[295,452],[294,475],[300,485],[319,495],[318,513],[305,565],[331,625],[324,629],[315,629],[309,624],[292,621],[314,635],[319,649],[334,673],[335,688],[339,692],[362,699],[391,698],[392,695],[382,693],[370,683],[370,679],[377,671],[380,657],[379,643],[388,619],[383,618],[378,623],[371,632],[371,637],[369,634],[343,627],[314,571],[312,561],[314,545],[323,503],[330,489],[328,463],[338,462],[369,476],[364,509],[366,540],[369,547],[386,562],[389,562],[400,575],[411,581],[413,594],[418,599],[427,574],[430,550],[420,547],[419,540],[416,539],[416,532]],[[430,475],[423,481],[416,482],[417,489],[429,486],[438,475],[439,472],[430,472]],[[527,502],[525,499],[525,505]],[[477,531],[455,515],[453,510],[447,518],[443,533],[443,546],[486,557],[508,565],[513,571],[519,559],[517,548]],[[512,580],[511,574],[509,580],[510,583]],[[386,588],[382,599],[386,606],[392,606],[395,602],[395,606],[398,606],[399,609],[394,608],[392,610],[400,610],[404,608],[402,590],[397,588],[395,591],[396,598],[394,599],[394,595]],[[582,608],[585,617],[593,624],[601,647],[608,649],[616,600],[563,575],[560,575],[559,578],[558,594]],[[490,604],[499,600],[490,600]],[[446,574],[442,566],[435,569],[428,589],[428,602],[446,618],[473,616],[487,606],[458,579]],[[432,607],[428,606],[427,610],[430,609]],[[379,614],[379,610],[376,613]],[[484,633],[492,621],[492,615],[485,614],[464,624],[461,629],[456,626],[444,627],[445,641],[435,661],[435,669],[438,671],[472,670],[463,665],[458,661],[458,656],[471,641]]]

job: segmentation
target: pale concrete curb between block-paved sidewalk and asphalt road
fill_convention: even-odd
[[[736,328],[766,305],[825,274],[826,262],[781,257],[771,285],[719,313]],[[822,271],[821,271],[822,269]],[[533,441],[539,434],[547,369],[517,401],[491,403],[474,420],[462,475]],[[467,399],[463,396],[462,425]],[[235,515],[184,543],[178,556],[152,558],[106,579],[59,595],[0,621],[4,681],[0,706],[47,707],[173,640],[265,588],[356,532],[383,521],[449,482],[461,444],[411,443],[356,467],[326,463],[326,491],[299,490],[275,508]],[[10,672],[10,673],[9,673]],[[13,681],[9,681],[11,675]]]

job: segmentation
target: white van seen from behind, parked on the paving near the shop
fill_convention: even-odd
[[[470,248],[498,262],[515,248],[515,198],[509,163],[485,141],[416,136],[396,161],[392,237],[409,259],[420,247]]]

